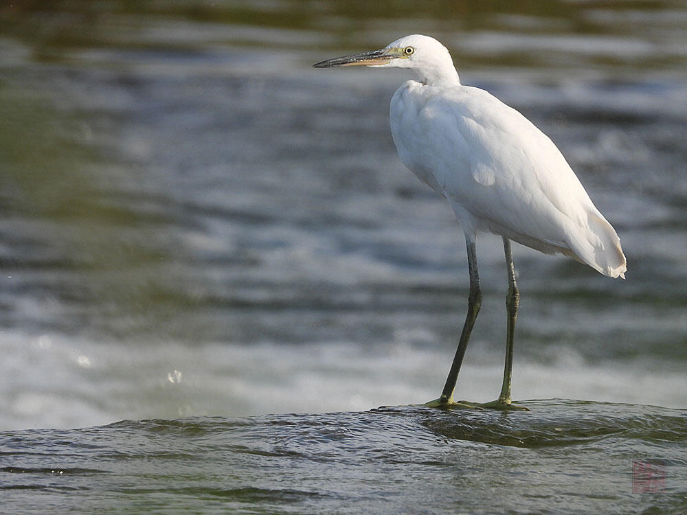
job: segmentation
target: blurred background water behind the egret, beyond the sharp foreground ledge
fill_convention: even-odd
[[[561,148],[627,280],[515,245],[513,398],[685,407],[684,1],[0,3],[0,428],[365,410],[440,393],[468,273],[396,157],[406,34]],[[456,396],[501,384],[506,271]]]

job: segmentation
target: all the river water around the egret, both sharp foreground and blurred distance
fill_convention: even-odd
[[[686,19],[677,1],[0,5],[3,505],[684,512]],[[514,398],[596,403],[368,411],[438,396],[464,244],[396,157],[405,74],[311,65],[413,32],[543,128],[620,234],[626,281],[514,247]],[[477,252],[457,396],[487,401],[506,280],[498,238]],[[667,460],[667,492],[632,494],[633,459]]]

